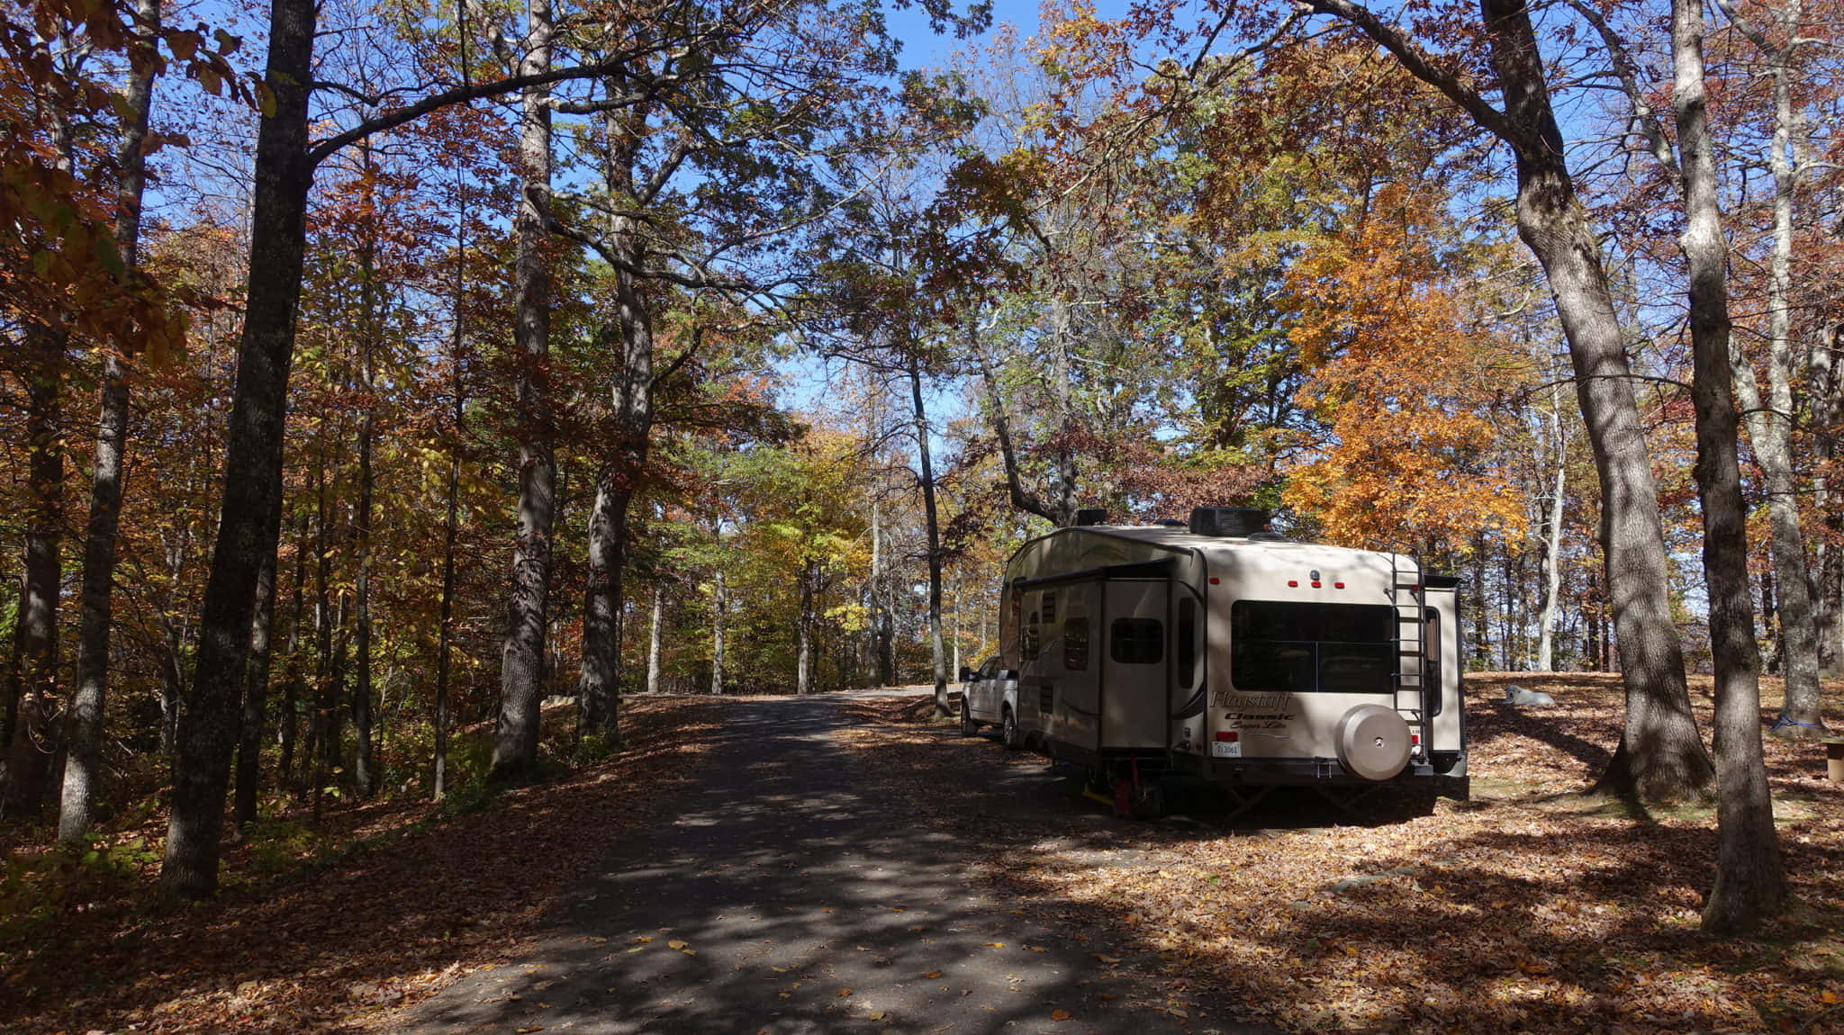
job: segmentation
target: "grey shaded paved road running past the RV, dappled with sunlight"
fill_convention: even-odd
[[[1259,1033],[1158,989],[983,893],[981,845],[852,788],[830,698],[738,704],[719,764],[673,820],[566,899],[538,952],[474,972],[417,1031]],[[531,866],[544,866],[542,858]]]

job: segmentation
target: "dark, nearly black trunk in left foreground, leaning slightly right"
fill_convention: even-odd
[[[295,346],[295,306],[306,241],[312,0],[269,7],[267,87],[275,98],[256,131],[249,289],[225,442],[223,501],[199,619],[199,657],[181,716],[171,818],[160,888],[203,897],[218,888],[218,851],[230,751],[238,735],[256,576],[275,552],[282,497],[282,425]]]

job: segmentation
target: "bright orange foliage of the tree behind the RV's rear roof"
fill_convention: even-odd
[[[1289,274],[1289,339],[1313,372],[1302,401],[1330,436],[1291,471],[1285,499],[1333,541],[1462,543],[1525,519],[1510,473],[1490,460],[1488,414],[1516,352],[1466,319],[1435,239],[1436,201],[1379,188],[1366,219]]]

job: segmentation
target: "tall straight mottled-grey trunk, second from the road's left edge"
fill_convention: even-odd
[[[520,74],[551,64],[551,4],[527,0],[526,59]],[[513,263],[513,341],[518,378],[518,543],[513,552],[513,595],[505,656],[500,667],[500,722],[492,738],[492,777],[524,779],[538,762],[538,702],[546,683],[550,621],[551,523],[557,501],[557,457],[551,427],[550,232],[551,109],[546,87],[524,90],[518,162],[518,254]]]

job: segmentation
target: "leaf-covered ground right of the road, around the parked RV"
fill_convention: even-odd
[[[1510,707],[1507,683],[1558,704]],[[1708,678],[1691,694],[1709,729]],[[1287,1031],[1844,1033],[1844,786],[1826,783],[1824,750],[1767,738],[1800,908],[1713,941],[1698,932],[1713,808],[1580,794],[1619,738],[1612,676],[1468,676],[1472,799],[1411,818],[1306,796],[1230,818],[1191,794],[1160,821],[1070,823],[1003,799],[1001,777],[1044,759],[963,740],[928,702],[856,707],[846,742],[907,785],[918,821],[990,845],[999,897],[1060,923],[1103,971],[1141,971],[1176,1017],[1228,996]]]

